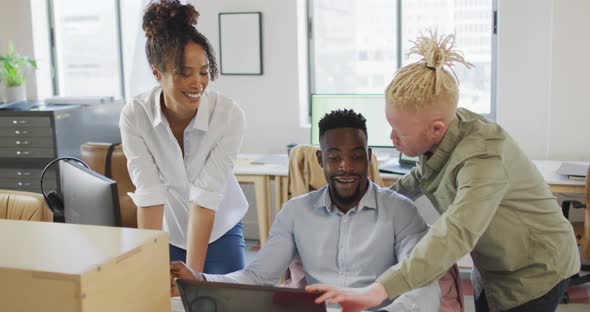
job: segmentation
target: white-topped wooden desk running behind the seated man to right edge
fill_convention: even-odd
[[[258,233],[260,245],[262,246],[268,238],[271,220],[271,183],[274,181],[273,193],[275,201],[273,208],[275,212],[281,209],[288,195],[288,165],[280,164],[251,164],[252,161],[262,157],[261,154],[240,154],[237,166],[234,170],[236,177],[241,183],[253,183],[256,189],[256,211],[258,215]],[[565,176],[557,174],[557,168],[561,161],[556,160],[534,160],[533,161],[549,189],[553,193],[584,194],[585,182],[570,180]],[[402,176],[392,173],[381,173],[385,186],[390,186]]]

